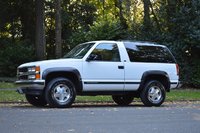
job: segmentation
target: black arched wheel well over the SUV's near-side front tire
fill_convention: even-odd
[[[69,79],[74,83],[76,92],[79,93],[82,91],[81,79],[73,72],[51,72],[46,76],[45,86],[54,78],[63,77]]]

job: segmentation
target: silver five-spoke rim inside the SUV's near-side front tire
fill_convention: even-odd
[[[59,103],[65,104],[71,97],[71,90],[65,84],[59,84],[54,87],[52,97]]]

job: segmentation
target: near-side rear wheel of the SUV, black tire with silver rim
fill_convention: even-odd
[[[145,106],[160,106],[164,102],[165,96],[165,87],[157,80],[146,82],[140,94],[140,98]]]

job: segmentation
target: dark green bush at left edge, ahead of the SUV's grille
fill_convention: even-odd
[[[17,67],[35,59],[34,50],[26,41],[12,43],[1,40],[0,77],[15,77]]]

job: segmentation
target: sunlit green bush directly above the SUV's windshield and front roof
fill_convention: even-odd
[[[101,20],[94,23],[89,31],[80,29],[72,34],[68,40],[69,44],[74,47],[79,43],[96,40],[120,40],[127,36],[119,21]]]

